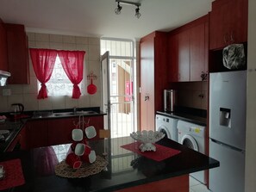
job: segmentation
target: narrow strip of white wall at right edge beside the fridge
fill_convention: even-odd
[[[246,192],[256,190],[256,1],[249,0]]]

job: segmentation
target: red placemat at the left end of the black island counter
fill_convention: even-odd
[[[13,159],[9,161],[0,162],[5,170],[5,177],[0,180],[0,190],[13,188],[25,183],[21,159]]]

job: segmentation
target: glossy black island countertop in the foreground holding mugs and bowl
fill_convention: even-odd
[[[55,153],[47,155],[56,155],[61,161],[66,157],[70,144],[35,148],[30,151],[0,153],[0,162],[14,158],[21,159],[26,182],[22,186],[5,191],[115,191],[219,166],[219,162],[215,159],[195,152],[171,139],[161,139],[158,144],[181,152],[159,162],[120,147],[131,142],[134,140],[130,137],[90,141],[89,145],[97,152],[97,155],[107,154],[104,157],[109,165],[102,172],[84,178],[57,177],[54,170],[49,169],[54,167],[54,164],[51,161],[47,161],[46,164],[46,161],[38,157],[38,154],[42,156],[47,153],[48,147],[53,147]]]

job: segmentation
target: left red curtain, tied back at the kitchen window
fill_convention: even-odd
[[[47,98],[47,81],[53,73],[53,66],[57,57],[57,50],[30,48],[30,57],[37,79],[41,82],[38,99]]]

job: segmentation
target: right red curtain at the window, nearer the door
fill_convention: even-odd
[[[81,96],[78,84],[83,80],[84,54],[84,51],[58,51],[61,65],[73,84],[72,98],[74,99]]]

